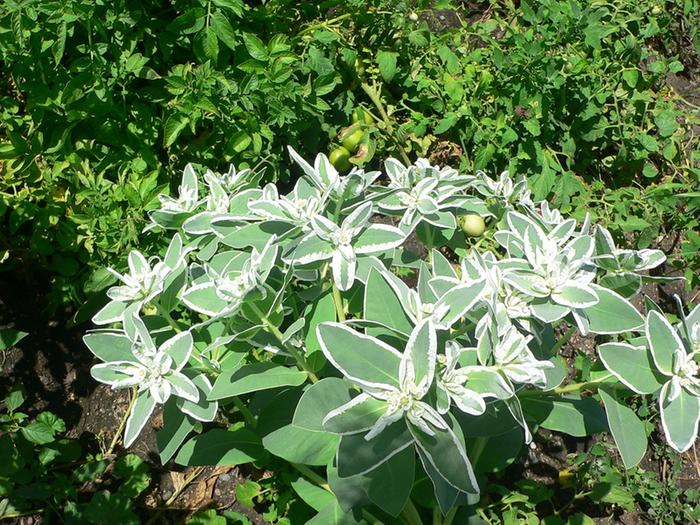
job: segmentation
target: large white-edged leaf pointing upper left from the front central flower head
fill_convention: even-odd
[[[323,323],[316,330],[323,354],[343,375],[366,386],[399,386],[396,349],[339,323]]]

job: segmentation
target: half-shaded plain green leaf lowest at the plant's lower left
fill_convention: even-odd
[[[250,430],[214,429],[185,443],[175,463],[185,466],[240,465],[265,455],[260,438]]]

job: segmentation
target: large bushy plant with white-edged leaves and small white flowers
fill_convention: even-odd
[[[282,458],[321,480],[320,499],[293,486],[325,525],[415,524],[414,501],[456,523],[539,427],[610,432],[632,467],[647,447],[635,396],[657,400],[671,447],[693,444],[700,309],[674,323],[630,302],[661,252],[616,248],[507,173],[389,159],[386,176],[341,174],[290,152],[286,195],[251,170],[187,166],[151,213],[167,250],[129,255],[85,336],[93,377],[133,389],[126,446],[163,407],[163,462]],[[465,239],[465,214],[488,219],[485,237]],[[574,381],[559,351],[576,330],[602,344]]]

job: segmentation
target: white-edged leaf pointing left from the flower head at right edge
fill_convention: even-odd
[[[627,343],[605,343],[598,347],[598,353],[605,368],[638,394],[653,394],[664,383],[646,348]]]

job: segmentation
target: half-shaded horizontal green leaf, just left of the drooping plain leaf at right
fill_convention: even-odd
[[[557,430],[576,437],[590,436],[608,430],[603,409],[590,397],[582,399],[523,398],[521,403],[529,419],[533,419],[549,430]]]

